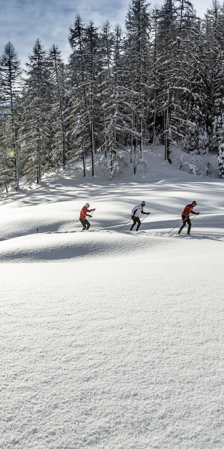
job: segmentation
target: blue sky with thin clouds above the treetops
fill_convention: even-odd
[[[198,15],[203,17],[211,2],[193,1]],[[96,26],[101,26],[108,19],[113,26],[120,23],[124,28],[128,4],[129,0],[0,0],[0,54],[10,40],[24,66],[38,37],[45,49],[53,43],[58,45],[67,62],[69,27],[73,26],[76,14],[85,23],[93,20]]]

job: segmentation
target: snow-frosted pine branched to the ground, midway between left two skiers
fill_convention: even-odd
[[[121,86],[123,61],[121,56],[122,31],[120,25],[111,29],[109,21],[105,22],[100,34],[100,72],[99,87],[101,104],[98,120],[103,124],[101,131],[102,147],[105,157],[105,170],[110,178],[121,173],[126,166],[124,152],[124,114],[123,93]],[[101,157],[101,162],[104,158]]]

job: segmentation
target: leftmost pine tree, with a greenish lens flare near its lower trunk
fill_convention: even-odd
[[[18,155],[18,95],[21,87],[21,67],[18,55],[9,41],[0,58],[0,121],[4,130],[1,136],[3,184],[14,190],[19,187]],[[7,187],[6,187],[7,190]]]

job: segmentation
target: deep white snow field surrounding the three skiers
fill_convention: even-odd
[[[156,147],[136,176],[77,170],[3,198],[0,448],[224,448],[224,180],[208,159],[194,176]],[[140,230],[118,230],[142,200]],[[193,200],[191,236],[168,233]]]

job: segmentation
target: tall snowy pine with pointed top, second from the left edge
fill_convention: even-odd
[[[51,84],[46,51],[37,39],[26,63],[25,92],[20,141],[27,181],[39,183],[50,168]]]

